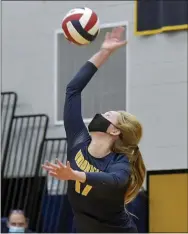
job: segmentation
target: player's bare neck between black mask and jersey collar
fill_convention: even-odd
[[[112,139],[108,135],[92,135],[88,152],[95,158],[103,158],[111,152],[113,144]]]

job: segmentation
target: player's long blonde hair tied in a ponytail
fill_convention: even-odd
[[[125,111],[118,112],[120,116],[117,127],[121,134],[113,145],[113,151],[125,154],[131,164],[131,176],[125,194],[125,203],[127,204],[137,196],[146,175],[145,164],[138,148],[142,138],[142,126],[134,115]]]

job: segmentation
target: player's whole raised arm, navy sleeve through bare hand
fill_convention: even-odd
[[[124,28],[118,27],[114,28],[111,33],[107,33],[101,46],[101,50],[80,69],[73,80],[67,85],[64,107],[64,125],[67,135],[68,149],[73,148],[89,138],[81,114],[81,92],[91,80],[97,69],[106,62],[111,53],[126,45],[127,42],[121,40],[123,32]]]

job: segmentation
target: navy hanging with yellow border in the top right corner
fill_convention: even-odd
[[[188,29],[187,0],[136,0],[136,34]]]

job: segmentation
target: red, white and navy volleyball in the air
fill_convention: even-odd
[[[88,45],[100,31],[97,14],[87,7],[70,10],[62,21],[65,38],[76,45]]]

